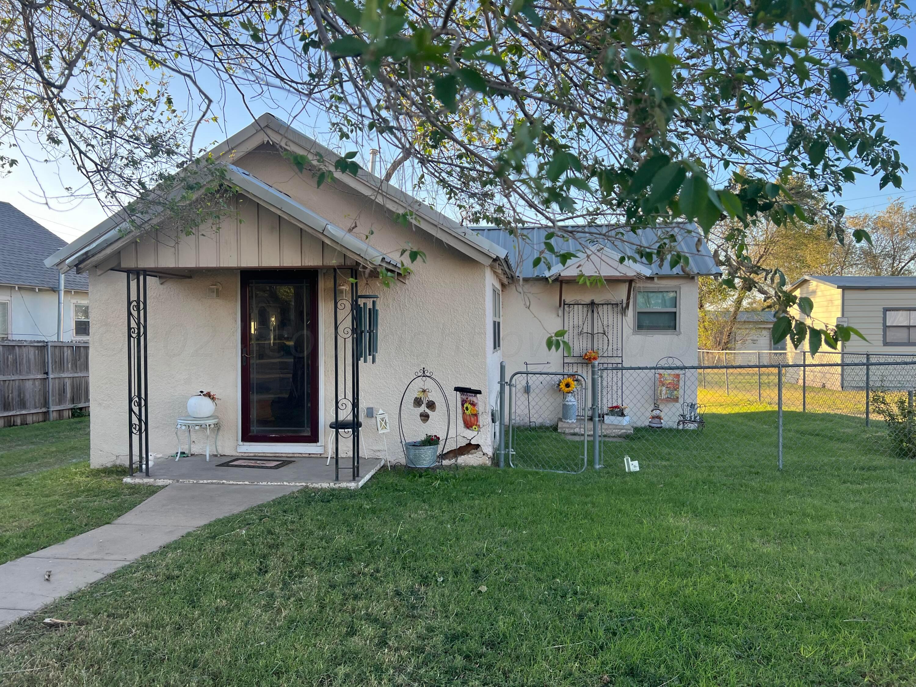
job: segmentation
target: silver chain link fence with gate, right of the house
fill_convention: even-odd
[[[641,470],[791,472],[916,459],[916,361],[826,357],[804,364],[596,365],[589,380],[575,376],[588,407],[577,408],[572,423],[561,420],[563,373],[516,373],[507,385],[509,463],[582,472],[595,463],[594,448],[598,465],[623,469],[628,456]],[[597,405],[605,384],[622,389],[619,407]]]

